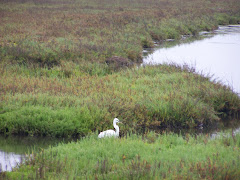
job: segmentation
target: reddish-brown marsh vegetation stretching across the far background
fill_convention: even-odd
[[[142,59],[153,40],[179,39],[238,23],[237,0],[49,0],[0,2],[0,58],[52,68],[63,62]]]

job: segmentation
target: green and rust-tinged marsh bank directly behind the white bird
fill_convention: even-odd
[[[147,66],[110,75],[58,76],[56,69],[1,70],[0,132],[82,136],[124,122],[121,133],[149,127],[209,126],[239,113],[237,94],[193,68]]]

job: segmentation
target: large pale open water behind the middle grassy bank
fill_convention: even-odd
[[[168,41],[154,48],[153,53],[149,53],[152,49],[145,50],[143,64],[188,64],[197,72],[213,75],[212,79],[221,81],[239,94],[240,25],[220,26],[213,32],[200,34],[200,40]]]

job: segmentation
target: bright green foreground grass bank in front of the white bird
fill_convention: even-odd
[[[5,179],[238,179],[240,136],[176,134],[97,139],[33,153]],[[34,158],[33,158],[34,157]]]

